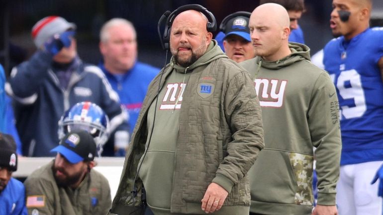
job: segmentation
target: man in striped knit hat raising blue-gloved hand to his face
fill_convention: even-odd
[[[5,85],[14,100],[23,155],[49,156],[59,140],[57,122],[61,115],[82,101],[93,102],[105,111],[111,132],[129,131],[127,113],[103,72],[78,57],[75,30],[74,23],[59,16],[38,21],[32,28],[38,50],[29,61],[13,68]],[[105,144],[102,155],[112,156],[117,151],[113,139]]]

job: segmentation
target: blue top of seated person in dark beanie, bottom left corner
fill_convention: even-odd
[[[24,185],[14,178],[0,193],[0,215],[27,215]]]

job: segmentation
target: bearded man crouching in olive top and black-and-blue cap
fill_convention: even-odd
[[[68,133],[51,152],[56,158],[24,182],[31,215],[106,215],[111,206],[107,179],[92,170],[96,143],[86,131]]]

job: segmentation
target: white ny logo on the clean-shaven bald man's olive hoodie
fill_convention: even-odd
[[[257,78],[254,83],[262,107],[282,107],[287,80]]]

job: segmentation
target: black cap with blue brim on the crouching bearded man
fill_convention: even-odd
[[[78,130],[68,133],[51,152],[62,154],[70,163],[92,161],[95,159],[96,142],[87,131]]]

